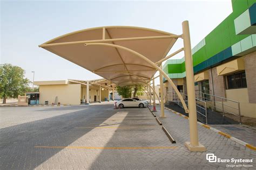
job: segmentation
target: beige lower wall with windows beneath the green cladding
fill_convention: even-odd
[[[242,116],[256,118],[255,55],[253,52],[195,74],[196,97],[217,111],[239,115],[240,109]],[[186,77],[172,81],[187,94]],[[165,93],[173,90],[168,82],[165,88]]]

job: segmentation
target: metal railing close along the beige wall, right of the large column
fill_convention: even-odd
[[[196,98],[199,98],[202,101],[206,101],[207,105],[212,108],[212,111],[222,111],[223,116],[225,116],[225,113],[229,113],[239,117],[240,124],[242,123],[240,103],[238,101],[211,94],[206,94],[198,90],[196,91]],[[230,105],[228,105],[228,103],[230,103]],[[233,105],[236,105],[237,107],[233,107]]]

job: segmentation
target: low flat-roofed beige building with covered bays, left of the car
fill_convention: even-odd
[[[87,83],[89,83],[88,89]],[[105,79],[35,81],[34,84],[39,86],[39,104],[78,105],[109,101],[109,94],[114,91],[114,84]],[[89,95],[87,95],[87,91],[89,91]]]

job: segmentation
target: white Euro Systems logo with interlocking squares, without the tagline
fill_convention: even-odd
[[[253,162],[253,159],[235,159],[235,158],[231,158],[231,159],[221,159],[221,158],[217,158],[213,153],[207,153],[206,154],[206,160],[208,160],[208,162],[231,162],[234,164],[237,163],[251,163]]]

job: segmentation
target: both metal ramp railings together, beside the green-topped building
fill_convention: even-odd
[[[180,94],[187,105],[187,95],[184,93],[180,93]],[[165,100],[168,102],[174,102],[178,104],[181,108],[183,108],[183,105],[181,104],[176,91],[168,91],[166,94]],[[207,93],[203,93],[202,91],[196,91],[196,107],[197,107],[198,121],[202,123],[208,124],[209,117],[211,119],[217,119],[217,117],[219,117],[220,114],[222,115],[224,120],[226,113],[239,117],[239,123],[240,124],[242,123],[240,103],[238,101],[233,101],[228,98],[210,95]],[[223,124],[228,124],[228,123],[224,122]]]

